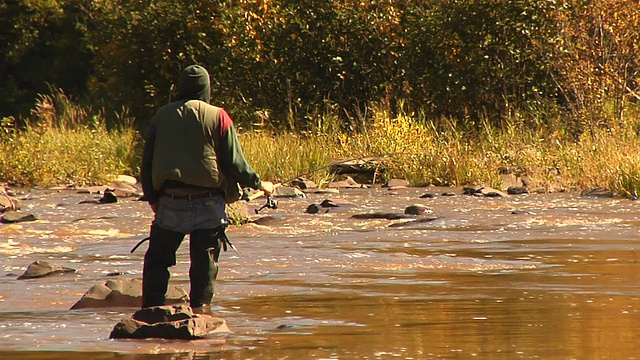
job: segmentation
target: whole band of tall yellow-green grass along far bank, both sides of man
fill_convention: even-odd
[[[562,128],[561,118],[543,124],[518,117],[500,127],[486,122],[464,128],[419,114],[392,118],[382,109],[372,112],[358,133],[336,130],[338,120],[328,114],[309,132],[241,131],[240,141],[249,163],[273,181],[304,174],[322,186],[333,180],[328,166],[333,160],[374,157],[384,163],[382,177],[407,179],[415,186],[499,188],[506,169],[544,191],[600,186],[624,196],[640,194],[637,118],[575,138]],[[139,134],[130,125],[108,129],[93,113],[58,92],[39,99],[25,129],[14,131],[7,124],[11,119],[4,119],[0,180],[51,186],[99,184],[110,174],[137,176]],[[121,124],[132,123],[120,118]]]

